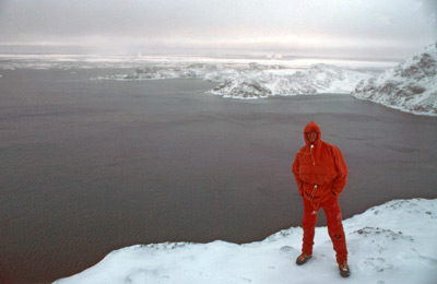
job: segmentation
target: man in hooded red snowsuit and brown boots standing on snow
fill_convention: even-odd
[[[310,121],[305,127],[304,138],[306,145],[297,152],[293,163],[293,174],[304,199],[304,244],[296,263],[302,265],[311,258],[317,214],[322,208],[340,274],[349,276],[346,239],[338,201],[346,186],[346,163],[336,146],[321,141],[321,131],[316,122]]]

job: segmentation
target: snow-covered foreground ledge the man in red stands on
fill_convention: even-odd
[[[293,227],[245,245],[217,240],[132,246],[55,283],[436,283],[437,199],[393,200],[343,224],[349,279],[339,275],[326,227],[316,228],[314,258],[297,267],[302,228]]]

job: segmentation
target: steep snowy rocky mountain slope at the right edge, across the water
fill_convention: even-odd
[[[395,68],[363,80],[353,95],[404,111],[437,115],[437,42]]]

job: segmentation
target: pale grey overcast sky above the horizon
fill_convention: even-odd
[[[0,52],[405,57],[436,0],[0,0]]]

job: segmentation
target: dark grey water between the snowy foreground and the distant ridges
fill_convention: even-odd
[[[300,225],[291,167],[309,120],[349,165],[345,218],[437,197],[437,118],[344,95],[234,100],[204,94],[211,82],[88,80],[123,72],[1,70],[3,279],[48,283],[126,246]]]

